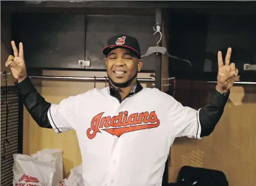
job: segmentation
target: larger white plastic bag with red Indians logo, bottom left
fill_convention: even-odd
[[[31,156],[14,154],[14,186],[52,186],[63,179],[62,150],[44,149]],[[61,166],[61,168],[60,168]]]

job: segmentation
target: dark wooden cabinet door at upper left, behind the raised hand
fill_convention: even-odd
[[[85,58],[85,15],[16,14],[13,39],[24,44],[27,68],[80,69]]]

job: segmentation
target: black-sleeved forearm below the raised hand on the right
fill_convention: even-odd
[[[209,136],[215,129],[216,124],[219,122],[220,117],[223,114],[224,107],[228,101],[228,95],[220,94],[216,91],[216,94],[209,102],[199,111],[199,121],[201,124],[201,137]]]

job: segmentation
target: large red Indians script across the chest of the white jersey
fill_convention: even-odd
[[[118,116],[102,117],[104,113],[97,114],[92,118],[91,128],[87,129],[87,136],[93,139],[101,130],[120,137],[121,134],[136,130],[151,129],[160,124],[155,111],[134,113],[128,116],[128,111],[120,112]]]

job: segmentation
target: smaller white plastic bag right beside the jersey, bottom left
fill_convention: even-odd
[[[82,165],[75,166],[71,169],[71,174],[56,186],[85,186],[84,179],[82,178]]]

